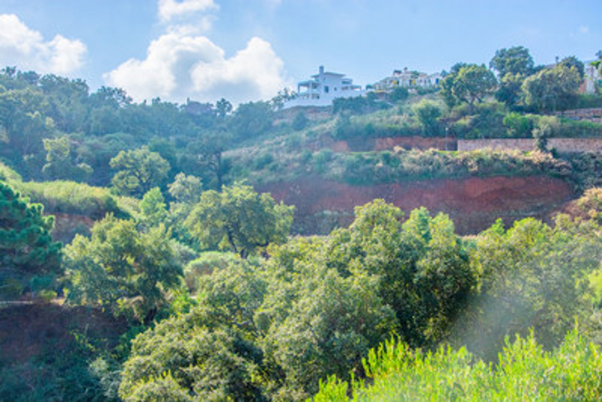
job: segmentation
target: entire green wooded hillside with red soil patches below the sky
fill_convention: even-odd
[[[0,399],[598,400],[602,96],[510,50],[323,108],[2,70]]]

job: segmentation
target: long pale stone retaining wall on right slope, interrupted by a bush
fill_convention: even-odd
[[[535,149],[533,138],[495,138],[491,140],[458,140],[459,151],[470,151],[483,148],[518,149],[529,151]],[[602,152],[602,138],[550,138],[548,148],[557,152]]]

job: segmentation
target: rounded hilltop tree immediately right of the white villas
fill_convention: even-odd
[[[496,85],[494,73],[484,64],[467,64],[442,80],[441,96],[450,106],[466,102],[472,109],[474,102],[482,102],[483,97],[492,93]]]

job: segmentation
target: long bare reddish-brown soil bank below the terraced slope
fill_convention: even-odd
[[[259,191],[295,205],[294,232],[324,234],[353,220],[353,207],[382,198],[409,212],[425,206],[432,214],[450,215],[461,234],[477,233],[497,218],[506,224],[546,218],[573,198],[570,186],[547,176],[437,179],[356,186],[320,178],[263,185]]]

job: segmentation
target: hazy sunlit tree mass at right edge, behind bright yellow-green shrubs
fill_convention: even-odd
[[[566,215],[552,228],[532,218],[504,230],[501,221],[476,240],[471,258],[480,294],[458,324],[459,339],[492,359],[505,336],[533,327],[546,347],[559,344],[579,317],[591,323],[587,276],[599,270],[602,242],[593,221]]]

